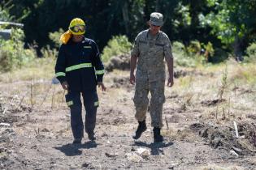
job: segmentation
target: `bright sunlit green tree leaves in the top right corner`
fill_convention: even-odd
[[[255,32],[256,19],[252,17],[256,10],[255,0],[207,0],[208,6],[214,6],[215,11],[200,16],[202,25],[210,25],[211,33],[215,34],[228,47],[236,39]]]

